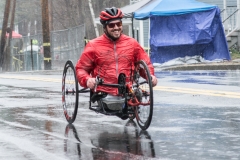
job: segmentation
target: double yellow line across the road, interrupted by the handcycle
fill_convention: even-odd
[[[62,83],[62,79],[59,79],[59,78],[23,77],[23,76],[7,76],[7,75],[0,75],[0,78]],[[207,96],[217,96],[217,97],[239,98],[240,99],[240,93],[238,93],[238,92],[193,89],[193,88],[182,88],[182,87],[170,87],[170,86],[169,87],[168,86],[156,86],[153,89],[159,90],[159,91],[165,91],[165,92],[186,93],[186,94],[194,94],[194,95],[207,95]]]

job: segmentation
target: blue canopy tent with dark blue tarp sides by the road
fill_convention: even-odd
[[[200,55],[206,60],[230,60],[220,10],[195,0],[153,0],[134,13],[150,17],[151,61]]]

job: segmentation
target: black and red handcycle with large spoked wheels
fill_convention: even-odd
[[[90,110],[122,119],[136,119],[142,130],[150,126],[153,114],[153,87],[148,66],[144,61],[136,62],[130,75],[120,73],[118,84],[104,83],[104,79],[99,76],[96,77],[96,84],[95,89],[80,88],[72,61],[68,60],[65,63],[62,77],[62,104],[68,123],[71,124],[76,119],[79,94],[89,92]],[[96,92],[98,85],[117,88],[119,96]]]

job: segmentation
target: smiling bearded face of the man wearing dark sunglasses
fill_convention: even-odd
[[[110,36],[118,39],[122,33],[122,21],[120,20],[111,21],[106,26],[106,30]]]

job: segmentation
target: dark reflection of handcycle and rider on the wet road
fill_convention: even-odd
[[[99,131],[98,131],[99,132]],[[81,151],[81,133],[78,133],[73,124],[65,129],[67,139],[64,142],[64,151],[67,155],[84,157]],[[76,142],[74,142],[74,140]],[[91,137],[94,146],[90,152],[93,159],[138,159],[140,157],[154,158],[155,149],[151,136],[147,131],[139,131],[137,124],[129,120],[123,133],[100,131],[97,137]],[[75,149],[73,147],[75,145]],[[84,144],[83,144],[84,146]]]

